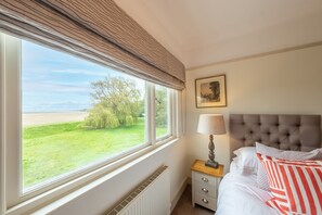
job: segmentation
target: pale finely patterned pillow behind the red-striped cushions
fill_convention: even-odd
[[[276,159],[298,161],[322,160],[322,149],[315,149],[310,152],[284,151],[256,142],[256,151],[257,153],[268,156],[274,156]],[[258,165],[257,184],[259,188],[263,190],[269,190],[268,177],[262,165]]]

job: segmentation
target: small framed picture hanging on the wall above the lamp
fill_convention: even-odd
[[[226,75],[195,80],[196,108],[227,106]]]

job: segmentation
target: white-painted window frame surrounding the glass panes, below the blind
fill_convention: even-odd
[[[170,135],[163,139],[156,139],[155,85],[145,81],[145,144],[104,162],[92,163],[72,174],[59,176],[57,180],[54,178],[52,181],[40,184],[35,189],[23,192],[21,176],[21,39],[0,31],[0,188],[4,190],[0,194],[1,214],[21,214],[38,207],[177,138],[178,92],[172,89],[168,90]]]

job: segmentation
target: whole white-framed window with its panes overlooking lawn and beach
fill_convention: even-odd
[[[10,206],[175,137],[175,90],[0,33],[1,47]]]

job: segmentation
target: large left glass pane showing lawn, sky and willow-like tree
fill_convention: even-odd
[[[145,83],[22,40],[23,188],[145,143]]]

